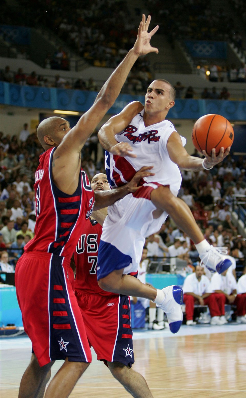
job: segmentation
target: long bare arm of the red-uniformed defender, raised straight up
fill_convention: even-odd
[[[75,191],[80,171],[81,149],[120,94],[134,62],[139,55],[158,53],[158,49],[150,45],[150,39],[158,26],[148,33],[150,20],[151,17],[148,16],[145,21],[145,15],[143,15],[133,48],[103,85],[92,107],[81,116],[76,126],[64,135],[62,142],[56,148],[52,162],[52,176],[54,183],[61,191],[68,194]]]

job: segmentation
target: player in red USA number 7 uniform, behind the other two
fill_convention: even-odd
[[[94,192],[109,188],[106,174],[91,180]],[[97,213],[97,214],[95,214]],[[76,266],[75,295],[81,309],[89,344],[104,361],[112,375],[135,398],[153,398],[143,376],[132,369],[134,351],[128,296],[102,290],[97,283],[97,252],[102,225],[107,215],[100,210],[92,213],[74,252]],[[110,320],[110,322],[108,322]]]

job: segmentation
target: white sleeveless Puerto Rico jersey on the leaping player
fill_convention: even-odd
[[[167,141],[175,130],[169,120],[164,120],[145,127],[143,122],[144,109],[136,115],[130,125],[115,136],[118,142],[128,142],[132,146],[136,158],[121,157],[105,152],[106,172],[110,186],[119,187],[128,183],[134,174],[143,166],[153,166],[154,176],[145,177],[140,182],[157,182],[169,185],[170,191],[177,195],[182,177],[178,166],[169,158]],[[186,139],[181,137],[183,146]]]

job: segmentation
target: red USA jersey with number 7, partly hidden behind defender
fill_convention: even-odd
[[[103,227],[96,220],[89,219],[83,226],[74,252],[77,269],[74,287],[83,293],[108,296],[112,293],[102,290],[97,283],[97,254],[102,230]]]

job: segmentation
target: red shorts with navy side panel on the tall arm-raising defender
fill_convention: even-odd
[[[17,300],[40,366],[66,357],[91,362],[83,318],[70,282],[73,278],[70,261],[60,256],[27,252],[17,261]]]

